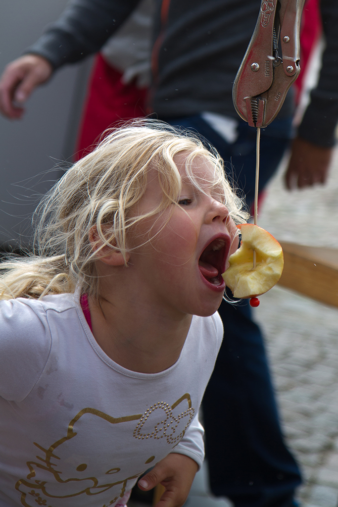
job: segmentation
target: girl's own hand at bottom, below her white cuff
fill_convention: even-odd
[[[148,491],[158,484],[165,488],[156,507],[181,507],[198,470],[196,461],[184,454],[171,453],[138,481],[138,487]]]

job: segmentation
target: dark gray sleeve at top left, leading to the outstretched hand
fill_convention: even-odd
[[[54,69],[97,52],[139,0],[72,0],[24,53],[45,57]]]

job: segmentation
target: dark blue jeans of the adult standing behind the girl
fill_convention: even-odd
[[[250,204],[256,129],[241,121],[237,141],[229,144],[199,115],[164,120],[195,129],[213,144],[231,176],[234,167]],[[261,131],[260,189],[276,171],[290,136],[290,118]],[[236,507],[289,507],[301,474],[284,444],[261,332],[251,320],[248,300],[223,301],[219,314],[224,339],[203,399],[211,490]]]

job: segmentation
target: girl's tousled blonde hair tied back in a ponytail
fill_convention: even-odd
[[[126,259],[126,233],[144,218],[129,211],[145,192],[149,169],[158,170],[163,197],[145,216],[177,204],[181,177],[173,159],[182,152],[193,185],[198,187],[192,164],[202,158],[214,167],[213,180],[207,183],[217,190],[235,223],[246,221],[242,199],[231,189],[222,159],[211,147],[162,122],[134,120],[108,133],[41,201],[33,217],[34,253],[0,264],[0,299],[39,298],[73,292],[76,286],[97,298],[99,251],[117,249]],[[99,238],[96,251],[90,240],[93,228]]]

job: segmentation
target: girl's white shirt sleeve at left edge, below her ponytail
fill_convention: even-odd
[[[39,305],[38,305],[39,307]],[[23,299],[0,301],[0,396],[20,402],[45,368],[51,348],[46,314]]]

